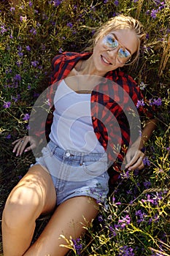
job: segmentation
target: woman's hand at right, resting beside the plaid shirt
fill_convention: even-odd
[[[125,168],[128,170],[135,170],[137,168],[141,170],[144,167],[143,159],[144,153],[141,150],[129,148],[125,156],[125,162],[127,162]]]

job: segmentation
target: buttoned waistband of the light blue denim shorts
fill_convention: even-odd
[[[47,147],[50,149],[51,154],[53,154],[58,159],[72,159],[73,161],[78,162],[88,162],[88,161],[98,161],[101,162],[107,162],[107,153],[87,153],[87,152],[80,152],[80,151],[72,151],[72,150],[64,150],[63,148],[60,148],[58,145],[53,143],[53,141],[50,140],[50,142],[47,144]]]

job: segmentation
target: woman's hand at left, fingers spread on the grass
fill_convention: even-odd
[[[30,143],[30,145],[27,147],[28,143]],[[23,136],[23,138],[20,138],[12,142],[12,145],[15,145],[12,152],[16,152],[16,157],[18,157],[21,156],[23,152],[27,152],[30,151],[31,149],[36,148],[37,141],[34,137],[25,135]]]

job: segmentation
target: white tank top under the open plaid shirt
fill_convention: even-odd
[[[64,150],[104,153],[93,131],[91,94],[77,94],[62,80],[55,92],[50,140]]]

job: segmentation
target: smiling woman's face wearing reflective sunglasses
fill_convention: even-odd
[[[139,41],[130,29],[109,31],[93,48],[93,62],[98,72],[107,73],[123,67],[136,52]]]

